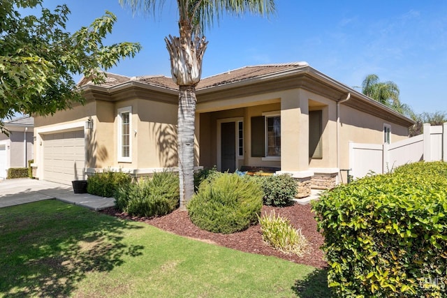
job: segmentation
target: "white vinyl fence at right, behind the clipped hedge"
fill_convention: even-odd
[[[374,172],[383,174],[417,161],[447,161],[447,123],[424,124],[424,133],[391,144],[349,143],[349,166],[353,178]]]

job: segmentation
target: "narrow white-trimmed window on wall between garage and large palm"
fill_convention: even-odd
[[[118,109],[118,161],[131,162],[132,107]]]

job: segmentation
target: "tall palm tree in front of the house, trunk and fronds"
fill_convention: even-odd
[[[133,13],[154,13],[165,0],[119,0]],[[177,138],[179,156],[180,209],[186,208],[194,193],[194,128],[196,118],[196,86],[202,74],[202,59],[207,48],[203,35],[206,27],[219,20],[223,13],[241,16],[245,13],[274,13],[274,0],[177,0],[179,37],[165,38],[170,54],[171,74],[179,86]]]

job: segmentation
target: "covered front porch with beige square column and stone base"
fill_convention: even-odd
[[[337,184],[336,156],[330,147],[335,128],[330,121],[335,120],[330,117],[335,114],[332,100],[291,89],[199,100],[196,111],[199,165],[215,165],[222,172],[291,174],[300,198],[312,188]]]

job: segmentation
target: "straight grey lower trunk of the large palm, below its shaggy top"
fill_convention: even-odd
[[[179,87],[177,141],[179,154],[180,209],[194,194],[194,129],[196,121],[196,87]]]

